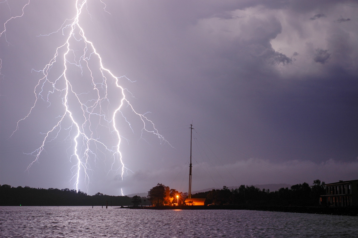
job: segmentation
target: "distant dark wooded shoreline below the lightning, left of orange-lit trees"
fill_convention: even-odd
[[[102,193],[87,195],[81,190],[57,188],[14,188],[0,186],[0,206],[131,206],[142,204],[146,198],[136,197],[135,203],[129,196],[110,196]]]

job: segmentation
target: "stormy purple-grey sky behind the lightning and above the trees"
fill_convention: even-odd
[[[88,178],[83,168],[79,173],[81,191],[142,193],[157,183],[188,191],[191,123],[193,191],[358,178],[357,1],[87,2],[79,16],[87,40],[113,75],[135,81],[120,78],[119,84],[137,113],[150,112],[145,116],[169,143],[142,133],[139,117],[123,107],[133,131],[118,114],[116,125],[129,170],[122,180],[118,161],[111,170],[111,154],[92,144]],[[41,94],[35,87],[43,77],[38,71],[68,38],[69,28],[58,29],[76,16],[76,1],[30,0],[15,18],[27,3],[0,3],[0,184],[73,189],[76,129],[68,114],[28,170],[35,157],[25,153],[41,146],[64,113],[63,92],[49,94],[47,102],[51,85],[45,83]],[[74,37],[66,75],[86,101],[94,95],[92,79],[76,58],[83,54],[83,39]],[[48,75],[51,82],[59,78],[57,88],[64,88],[64,50]],[[99,83],[99,60],[89,58]],[[106,77],[109,101],[103,110],[112,115],[121,95]],[[43,98],[11,136],[36,95]],[[71,106],[83,123],[80,108]],[[94,138],[115,147],[112,122],[95,115],[91,120],[86,133],[92,128]],[[78,148],[83,162],[85,149]]]

